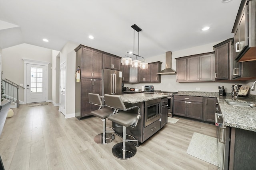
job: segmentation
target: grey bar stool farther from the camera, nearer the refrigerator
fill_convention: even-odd
[[[99,94],[94,94],[94,93],[88,93],[88,98],[89,98],[89,103],[94,104],[97,106],[100,106],[98,110],[91,111],[91,114],[99,117],[103,121],[103,133],[100,133],[94,137],[94,142],[98,144],[107,144],[112,142],[115,139],[115,135],[110,133],[114,132],[112,131],[106,131],[106,118],[114,113],[115,110],[109,108],[109,107],[104,107],[104,104],[102,103],[102,99],[100,98]],[[113,129],[112,127],[108,127]]]

